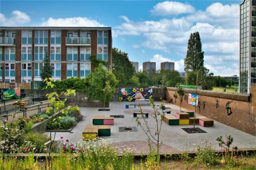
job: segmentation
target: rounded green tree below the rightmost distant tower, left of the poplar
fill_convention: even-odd
[[[178,83],[182,82],[180,73],[175,70],[164,70],[162,78],[163,84],[167,87],[175,87]]]

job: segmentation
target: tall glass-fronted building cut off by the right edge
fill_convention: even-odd
[[[250,94],[256,83],[256,1],[240,4],[239,92]]]

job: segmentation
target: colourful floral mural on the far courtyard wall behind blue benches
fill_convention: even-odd
[[[145,88],[119,89],[119,101],[135,101],[135,99],[152,99],[152,89],[145,89]]]

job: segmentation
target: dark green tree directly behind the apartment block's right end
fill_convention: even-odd
[[[119,81],[118,86],[126,86],[130,79],[135,74],[135,69],[128,58],[128,54],[118,50],[112,49],[113,73]]]

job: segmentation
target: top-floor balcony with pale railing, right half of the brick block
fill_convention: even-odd
[[[91,45],[91,37],[66,37],[67,46],[86,46]]]

